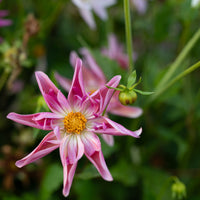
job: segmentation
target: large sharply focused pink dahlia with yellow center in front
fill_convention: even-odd
[[[116,87],[120,78],[113,77],[107,85]],[[141,128],[130,131],[102,116],[113,90],[104,86],[89,96],[83,86],[80,59],[76,62],[67,99],[43,72],[36,72],[36,79],[51,112],[30,115],[10,113],[7,117],[15,122],[51,132],[29,155],[18,160],[16,166],[23,167],[59,148],[63,165],[64,196],[69,194],[78,160],[83,154],[93,163],[103,179],[112,181],[96,133],[139,137],[142,132]]]

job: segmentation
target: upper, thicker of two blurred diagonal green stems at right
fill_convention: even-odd
[[[166,74],[164,75],[160,83],[158,84],[157,89],[160,89],[161,87],[163,87],[163,85],[165,85],[170,80],[170,78],[173,76],[176,69],[180,66],[181,62],[184,60],[184,58],[187,56],[187,54],[190,52],[190,50],[192,49],[192,47],[195,45],[195,43],[198,41],[199,38],[200,38],[200,28],[195,32],[195,34],[188,41],[188,43],[183,48],[179,56],[169,67],[169,70],[166,72]]]

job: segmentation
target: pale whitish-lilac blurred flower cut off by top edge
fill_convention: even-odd
[[[96,28],[92,10],[102,19],[108,18],[106,8],[116,3],[116,0],[72,0],[79,8],[79,12],[91,29]]]

